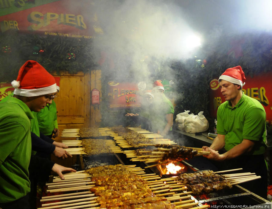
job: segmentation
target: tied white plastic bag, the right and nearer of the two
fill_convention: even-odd
[[[209,122],[203,115],[203,111],[200,111],[198,115],[185,118],[184,128],[187,133],[204,132],[209,128]]]

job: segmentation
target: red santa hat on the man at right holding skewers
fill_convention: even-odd
[[[225,72],[219,77],[219,80],[225,80],[240,86],[245,85],[245,76],[241,66],[236,66],[233,68],[228,68]]]

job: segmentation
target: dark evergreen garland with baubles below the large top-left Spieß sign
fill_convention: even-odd
[[[5,46],[9,46],[11,52],[4,53],[3,47]],[[67,71],[74,74],[88,72],[98,67],[93,60],[91,39],[39,36],[16,32],[1,34],[0,47],[2,49],[0,51],[1,82],[16,79],[20,67],[26,60],[37,61],[50,73]],[[75,59],[67,59],[67,53],[74,53]]]

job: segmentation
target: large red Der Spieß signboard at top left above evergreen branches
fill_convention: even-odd
[[[16,1],[11,3],[10,9],[15,3]],[[83,6],[82,3],[87,5]],[[43,5],[37,3],[38,6],[26,7],[27,9],[0,16],[0,31],[87,39],[102,34],[103,30],[97,22],[94,5],[89,5],[93,2],[82,3],[73,0],[60,0]]]

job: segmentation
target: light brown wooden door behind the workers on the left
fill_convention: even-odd
[[[71,75],[62,72],[60,75],[60,92],[54,99],[57,106],[58,129],[62,131],[67,128],[99,127],[101,121],[100,107],[91,105],[91,90],[97,88],[100,91],[101,102],[101,71],[92,70],[84,74],[79,72]],[[76,138],[62,138],[61,134],[55,138],[56,141],[75,140]],[[70,167],[77,161],[77,156],[59,160],[52,160],[62,166]]]

